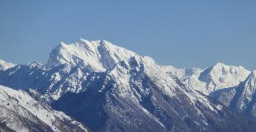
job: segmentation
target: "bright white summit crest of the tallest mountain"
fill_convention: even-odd
[[[69,64],[75,66],[84,63],[96,70],[105,71],[120,61],[128,61],[131,56],[138,55],[106,40],[89,41],[80,38],[71,44],[60,42],[60,45],[52,50],[46,65]]]

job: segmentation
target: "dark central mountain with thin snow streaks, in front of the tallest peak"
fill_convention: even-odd
[[[149,57],[91,74],[52,107],[93,131],[252,131],[255,122],[178,84]]]

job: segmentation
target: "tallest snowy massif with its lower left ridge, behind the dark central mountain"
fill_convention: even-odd
[[[0,70],[0,84],[14,89],[36,89],[58,99],[66,92],[83,92],[82,82],[89,74],[109,70],[131,56],[138,55],[105,40],[60,43],[52,50],[46,65],[32,62]]]

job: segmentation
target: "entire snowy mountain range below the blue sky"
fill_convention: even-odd
[[[105,40],[0,61],[0,131],[255,131],[256,72],[178,69]]]

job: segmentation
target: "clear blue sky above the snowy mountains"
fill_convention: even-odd
[[[80,37],[162,65],[224,62],[256,70],[256,1],[0,1],[0,59],[46,63],[60,41]]]

